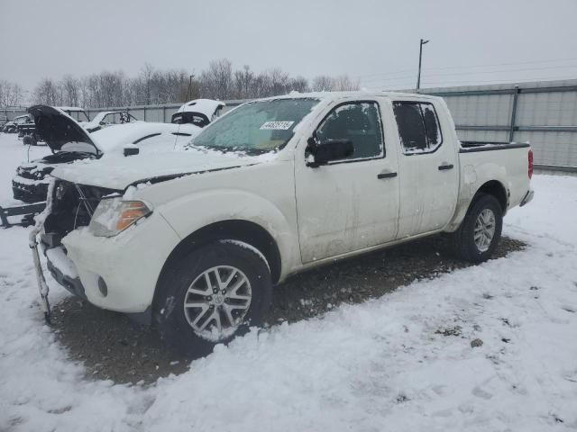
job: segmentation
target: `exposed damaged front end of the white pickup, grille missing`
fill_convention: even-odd
[[[42,273],[38,247],[41,247],[47,259],[50,275],[70,293],[86,299],[78,271],[67,256],[62,238],[75,229],[87,227],[102,198],[116,192],[118,191],[50,179],[46,209],[36,218],[36,224],[30,234],[41,307],[48,322],[50,322],[49,288]]]

